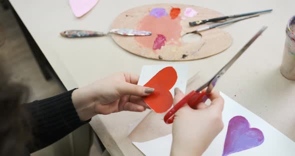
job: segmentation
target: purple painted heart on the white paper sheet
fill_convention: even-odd
[[[229,120],[222,156],[256,147],[263,143],[264,136],[260,129],[250,128],[243,116],[234,116]]]

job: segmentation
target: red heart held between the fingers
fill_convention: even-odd
[[[173,97],[169,90],[176,80],[177,73],[172,66],[161,69],[143,85],[154,88],[154,91],[143,99],[144,102],[157,113],[167,111],[173,103]]]

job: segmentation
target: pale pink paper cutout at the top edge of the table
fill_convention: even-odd
[[[69,0],[69,6],[76,17],[80,17],[92,9],[99,0]]]

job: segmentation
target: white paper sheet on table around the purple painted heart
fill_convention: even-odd
[[[280,131],[268,124],[259,116],[244,108],[222,92],[224,98],[224,109],[222,120],[224,128],[215,137],[203,155],[222,155],[223,144],[227,131],[228,121],[236,115],[244,116],[250,123],[250,127],[259,128],[264,135],[264,142],[259,146],[230,154],[238,155],[295,155],[295,142],[283,135]],[[201,127],[200,127],[201,128]],[[295,129],[294,129],[295,131]],[[133,142],[145,155],[169,155],[172,135],[168,134],[146,142]]]

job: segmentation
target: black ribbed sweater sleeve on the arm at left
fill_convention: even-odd
[[[89,122],[90,119],[79,119],[71,100],[73,90],[24,104],[31,114],[29,123],[32,137],[27,144],[29,152],[52,144]]]

